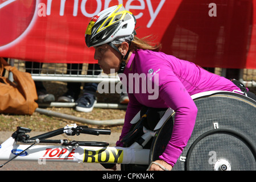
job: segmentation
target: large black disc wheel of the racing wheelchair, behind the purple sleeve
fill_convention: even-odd
[[[236,93],[197,98],[195,128],[172,170],[255,170],[256,102]],[[150,162],[171,138],[174,115],[156,133]]]

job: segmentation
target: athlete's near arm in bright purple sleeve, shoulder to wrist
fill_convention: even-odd
[[[160,73],[159,80],[161,80],[160,98],[176,112],[171,140],[159,159],[173,167],[191,137],[196,121],[197,107],[174,72],[169,71],[168,74],[162,76]]]

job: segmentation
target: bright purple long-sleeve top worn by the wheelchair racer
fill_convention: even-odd
[[[123,74],[126,78],[124,75],[120,78],[130,101],[119,139],[129,132],[131,119],[143,105],[171,107],[176,112],[172,137],[166,150],[159,156],[171,166],[174,166],[187,145],[195,125],[197,107],[191,96],[209,90],[240,90],[232,81],[189,61],[142,49],[132,53]],[[116,144],[122,146],[119,141]]]

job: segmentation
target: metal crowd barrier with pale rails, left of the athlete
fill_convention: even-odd
[[[82,64],[79,69],[67,68],[67,64],[63,63],[40,63],[39,68],[26,68],[25,61],[10,59],[10,65],[15,66],[19,71],[31,72],[31,76],[34,81],[61,81],[61,82],[120,82],[117,75],[95,75],[95,72],[101,72],[101,70],[88,69],[88,64]],[[42,64],[42,65],[41,65]],[[41,68],[42,67],[42,68]],[[69,74],[67,74],[69,72]],[[87,72],[92,72],[92,75],[86,75]],[[71,74],[72,73],[72,74]],[[13,80],[11,73],[9,73],[9,79]],[[75,107],[75,103],[65,102],[51,102],[50,104],[40,104],[44,107]],[[126,109],[127,105],[122,104],[108,104],[108,103],[97,103],[94,107],[100,107],[105,109]]]

